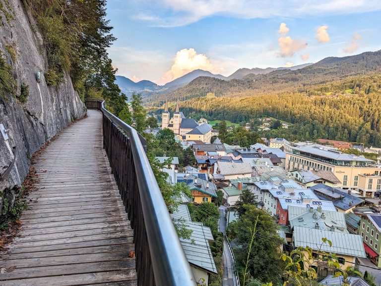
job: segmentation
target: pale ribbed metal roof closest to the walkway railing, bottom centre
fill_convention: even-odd
[[[190,239],[180,238],[189,263],[207,272],[217,273],[209,246],[209,240],[214,240],[210,228],[203,226],[202,223],[185,222],[182,224],[192,231]]]

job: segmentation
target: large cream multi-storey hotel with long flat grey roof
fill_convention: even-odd
[[[339,187],[375,197],[381,190],[381,165],[363,156],[355,156],[318,144],[286,145],[286,169],[331,171],[341,182]]]

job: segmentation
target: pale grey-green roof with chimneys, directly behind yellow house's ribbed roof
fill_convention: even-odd
[[[296,212],[294,209],[296,209],[296,211],[303,209],[304,212],[295,215]],[[290,206],[288,212],[290,214],[289,220],[291,227],[316,228],[318,226],[319,230],[327,231],[331,230],[331,227],[334,227],[334,232],[348,233],[343,213],[336,211],[318,212],[317,210],[311,212],[308,208],[300,208],[295,206]],[[323,214],[324,217],[322,216]]]

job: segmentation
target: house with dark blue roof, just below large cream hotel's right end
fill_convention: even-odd
[[[315,185],[311,187],[310,190],[314,191],[319,199],[330,200],[338,212],[353,212],[353,208],[364,202],[364,200],[358,196],[324,184]]]

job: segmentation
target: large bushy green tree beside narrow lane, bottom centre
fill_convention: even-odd
[[[255,205],[244,205],[244,208],[245,213],[229,227],[230,238],[236,238],[239,245],[234,248],[238,273],[243,273],[247,257],[250,255],[247,264],[250,276],[263,282],[277,283],[285,265],[280,259],[283,240],[277,233],[278,225],[268,213]],[[253,235],[250,230],[253,230],[255,221],[255,238],[250,247],[249,241]]]

